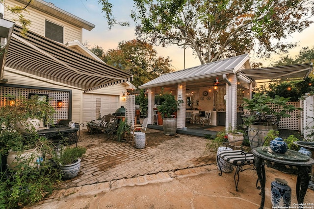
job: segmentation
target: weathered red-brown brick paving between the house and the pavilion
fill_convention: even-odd
[[[205,153],[208,142],[205,138],[184,134],[165,136],[162,131],[147,129],[146,141],[144,149],[136,149],[131,142],[118,142],[106,134],[90,135],[81,131],[78,146],[86,147],[87,151],[81,161],[80,172],[76,178],[64,181],[60,188],[134,177],[140,177],[138,181],[141,182],[145,181],[145,175],[164,175],[162,172],[215,163],[215,156]]]

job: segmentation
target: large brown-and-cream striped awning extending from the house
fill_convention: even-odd
[[[132,81],[133,75],[15,26],[5,66],[73,86],[84,92]]]

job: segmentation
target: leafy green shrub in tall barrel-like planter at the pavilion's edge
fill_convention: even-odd
[[[165,135],[175,135],[177,132],[177,118],[172,117],[178,111],[183,100],[176,100],[171,93],[161,94],[163,102],[157,107],[162,117],[162,127]]]

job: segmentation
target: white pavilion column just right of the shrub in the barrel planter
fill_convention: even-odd
[[[177,128],[185,127],[185,105],[186,105],[186,83],[178,83],[178,100],[182,99],[184,103],[180,104],[177,112]]]

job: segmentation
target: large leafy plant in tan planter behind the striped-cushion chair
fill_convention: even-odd
[[[252,99],[243,98],[243,108],[247,112],[242,119],[243,124],[248,127],[249,140],[258,137],[263,143],[270,130],[278,130],[281,118],[290,117],[288,113],[294,110],[302,110],[293,105],[287,105],[289,100],[290,98],[278,95],[271,98],[267,93],[256,93]]]

